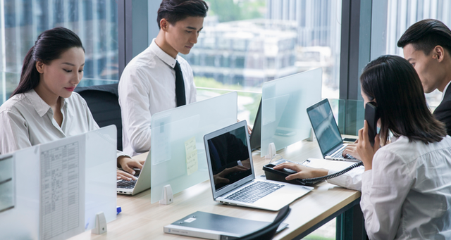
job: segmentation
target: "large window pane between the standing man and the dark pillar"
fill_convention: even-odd
[[[314,68],[323,68],[322,97],[338,99],[341,1],[207,2],[204,29],[183,56],[198,100],[218,89],[249,92],[238,96],[239,115],[253,125],[264,82]]]

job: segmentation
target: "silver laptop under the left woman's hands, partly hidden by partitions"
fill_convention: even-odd
[[[150,163],[150,151],[147,155],[147,159],[142,165],[142,170],[136,170],[137,180],[126,181],[123,179],[118,180],[116,191],[118,194],[135,195],[140,192],[150,188],[150,174],[151,174],[151,163]]]

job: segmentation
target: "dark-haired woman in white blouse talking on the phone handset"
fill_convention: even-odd
[[[381,116],[374,146],[366,121],[357,144],[369,239],[451,239],[451,137],[426,106],[416,71],[404,58],[381,56],[366,65],[360,83],[365,104],[375,102]],[[278,168],[298,171],[289,179],[327,174]]]

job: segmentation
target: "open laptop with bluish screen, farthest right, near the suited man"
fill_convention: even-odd
[[[345,157],[342,156],[347,144],[343,143],[328,99],[324,99],[307,108],[307,115],[309,115],[311,127],[318,140],[319,149],[321,149],[323,158],[329,160],[359,161],[349,154]]]

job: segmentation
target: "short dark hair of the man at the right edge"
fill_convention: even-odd
[[[451,53],[451,30],[439,20],[421,20],[410,26],[397,42],[397,46],[402,48],[407,44],[412,44],[415,50],[421,50],[426,55],[438,45]]]

